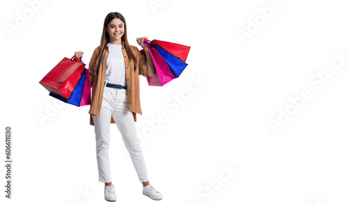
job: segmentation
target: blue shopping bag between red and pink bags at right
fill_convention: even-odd
[[[181,61],[180,58],[177,58],[170,52],[166,51],[162,47],[155,45],[155,49],[158,51],[159,54],[161,54],[162,58],[165,60],[165,62],[168,64],[168,67],[170,68],[172,74],[174,74],[174,77],[178,78],[181,72],[186,68],[188,65],[184,61]]]

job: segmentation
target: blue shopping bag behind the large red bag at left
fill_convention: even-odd
[[[56,95],[54,93],[50,93],[50,96],[57,98],[58,100],[61,100],[63,102],[66,102],[68,104],[73,104],[77,107],[80,107],[80,101],[82,97],[82,91],[84,89],[84,80],[86,78],[86,68],[84,69],[84,72],[82,72],[82,75],[77,82],[73,92],[71,93],[70,97],[68,100],[66,100],[64,97],[61,97],[59,95]]]

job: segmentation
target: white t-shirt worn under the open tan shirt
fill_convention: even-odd
[[[122,45],[107,43],[109,55],[107,57],[107,70],[105,82],[126,86],[125,59],[121,52]]]

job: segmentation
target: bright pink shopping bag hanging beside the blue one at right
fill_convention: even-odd
[[[168,64],[163,60],[161,54],[154,47],[151,47],[149,43],[144,42],[144,45],[149,48],[149,53],[156,70],[154,76],[147,77],[149,86],[163,86],[172,81],[172,79],[175,79],[176,77],[174,77],[170,68],[168,68]],[[144,54],[144,50],[142,50],[142,53]]]

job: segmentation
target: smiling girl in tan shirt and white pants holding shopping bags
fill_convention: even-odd
[[[142,193],[154,200],[163,196],[149,185],[147,169],[135,130],[136,113],[140,108],[139,75],[153,76],[155,68],[149,49],[143,44],[147,37],[137,38],[145,52],[140,53],[127,40],[126,20],[120,13],[109,13],[105,17],[101,45],[94,50],[89,62],[92,101],[89,110],[90,124],[96,134],[96,153],[99,181],[105,183],[105,200],[117,201],[108,157],[110,123],[116,123],[131,155],[133,166],[142,182]],[[75,52],[75,58],[83,52]]]

